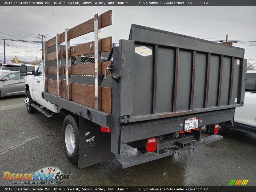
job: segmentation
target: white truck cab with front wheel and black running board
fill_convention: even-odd
[[[51,110],[53,113],[59,113],[59,107],[54,103],[51,103],[42,98],[42,91],[43,91],[43,62],[39,65],[37,70],[33,72],[33,75],[29,75],[26,78],[26,99],[24,100],[25,105],[27,106],[27,112],[35,113],[39,111],[40,113],[46,115],[49,119],[53,118],[53,114],[49,113],[44,110],[45,108]],[[30,105],[34,107],[31,107]],[[37,105],[35,105],[37,104]],[[39,104],[39,106],[38,106]]]

